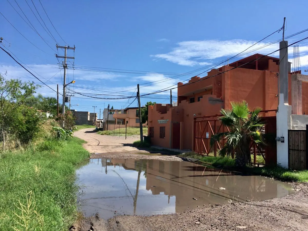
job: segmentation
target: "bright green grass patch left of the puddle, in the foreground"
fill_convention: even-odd
[[[0,230],[68,230],[77,218],[75,168],[89,157],[83,142],[44,140],[1,156]]]

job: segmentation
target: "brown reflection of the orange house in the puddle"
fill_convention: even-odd
[[[108,164],[120,165],[127,170],[144,171],[141,176],[146,178],[146,190],[151,190],[153,195],[163,193],[169,199],[175,196],[176,212],[196,208],[197,205],[201,207],[222,204],[229,200],[245,201],[246,197],[249,200],[277,197],[277,184],[270,179],[232,175],[226,171],[185,161],[115,159]],[[139,179],[136,179],[136,191],[139,187],[138,181]],[[220,187],[225,190],[220,190]],[[169,200],[167,201],[169,203]]]

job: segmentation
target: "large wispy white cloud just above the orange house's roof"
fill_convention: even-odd
[[[201,40],[201,41],[184,41],[177,43],[176,47],[170,52],[165,54],[151,55],[156,59],[165,59],[169,62],[176,63],[183,66],[196,66],[196,65],[209,65],[213,62],[213,59],[224,58],[234,56],[248,47],[252,46],[256,41],[250,41],[245,39],[233,39],[233,40]],[[269,43],[258,43],[251,47],[248,51],[254,53],[268,54],[279,49],[279,44],[272,44],[267,47],[263,47]],[[257,51],[252,51],[256,48],[261,48]],[[299,48],[300,52],[308,51],[308,46],[302,46]],[[291,51],[292,50],[292,51]],[[245,51],[247,52],[247,51]],[[289,56],[293,54],[293,47],[289,47]],[[278,52],[272,54],[272,56],[279,55]],[[235,61],[235,60],[234,60]]]

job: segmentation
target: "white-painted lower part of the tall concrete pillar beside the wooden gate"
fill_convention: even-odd
[[[277,112],[277,136],[284,137],[285,142],[277,141],[277,164],[283,168],[289,168],[288,153],[288,129],[291,128],[292,107],[284,103],[283,93],[279,94],[279,106]]]

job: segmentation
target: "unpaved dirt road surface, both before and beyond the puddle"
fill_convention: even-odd
[[[138,137],[102,136],[83,129],[75,136],[86,140],[84,147],[107,158],[169,158],[136,154],[137,148],[127,146]],[[111,153],[113,152],[113,153]],[[93,156],[96,158],[96,156]],[[171,157],[173,158],[173,157]],[[174,157],[178,159],[177,157]],[[170,159],[169,159],[170,160]],[[117,216],[108,221],[85,218],[72,230],[80,231],[163,231],[163,230],[308,230],[308,183],[292,183],[295,193],[265,201],[247,201],[194,208],[171,215]],[[247,185],[249,187],[249,185]]]

